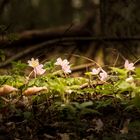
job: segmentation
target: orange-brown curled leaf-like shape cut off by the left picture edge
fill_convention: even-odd
[[[15,92],[18,91],[17,88],[13,87],[13,86],[9,86],[9,85],[3,85],[2,87],[0,87],[0,95],[7,95],[11,92]]]

